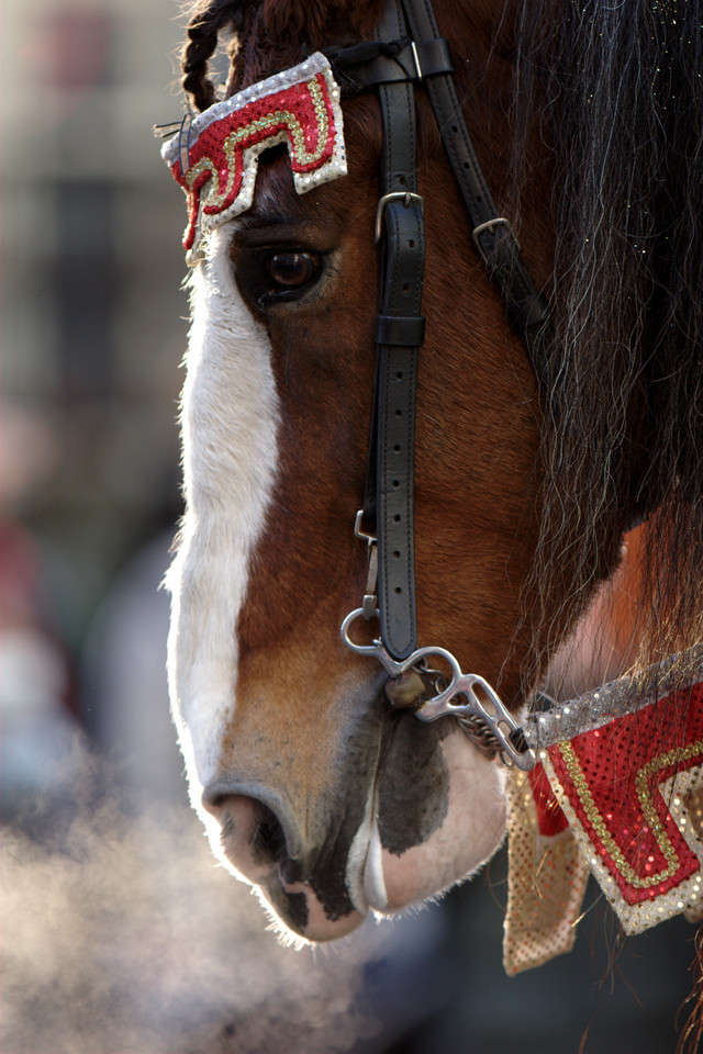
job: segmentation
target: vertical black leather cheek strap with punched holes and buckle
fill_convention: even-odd
[[[402,14],[387,7],[381,38],[402,36]],[[417,647],[414,567],[414,436],[417,348],[425,260],[416,188],[415,105],[406,79],[379,87],[383,150],[379,190],[381,260],[377,318],[375,427],[367,503],[376,505],[381,639],[394,659]],[[386,195],[394,195],[383,202]],[[373,493],[376,487],[376,493]],[[368,518],[371,509],[365,508]]]

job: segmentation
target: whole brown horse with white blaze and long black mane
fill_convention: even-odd
[[[169,154],[193,265],[172,709],[214,853],[293,941],[436,897],[495,853],[501,760],[634,526],[636,671],[702,636],[701,4],[435,0],[428,36],[405,20],[429,4],[408,7],[201,0]],[[358,74],[379,64],[400,89]],[[443,145],[440,77],[495,200],[483,223]],[[235,98],[259,122],[225,159],[246,201],[221,188],[207,205],[196,131],[214,142]],[[291,127],[343,123],[324,172],[308,139],[271,134],[286,106]],[[405,150],[416,179],[393,182]],[[411,422],[379,456],[405,370]],[[467,669],[466,719],[419,720]]]

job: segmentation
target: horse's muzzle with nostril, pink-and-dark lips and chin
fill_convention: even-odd
[[[406,715],[391,729],[362,778],[341,772],[312,809],[259,781],[221,776],[203,792],[215,854],[299,938],[335,940],[369,909],[421,902],[500,844],[501,767],[453,726],[443,736]]]

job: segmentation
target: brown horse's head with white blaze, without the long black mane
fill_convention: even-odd
[[[373,414],[375,225],[387,147],[377,93],[339,102],[336,82],[321,80],[320,105],[327,92],[330,120],[343,116],[344,157],[337,150],[338,178],[297,186],[317,171],[312,161],[305,169],[317,141],[304,138],[308,102],[290,94],[286,71],[319,49],[378,40],[386,11],[386,0],[201,4],[185,86],[210,114],[213,138],[215,119],[231,113],[204,77],[221,31],[236,41],[225,99],[282,79],[266,89],[268,109],[257,102],[261,92],[242,96],[227,157],[212,161],[210,150],[202,160],[186,143],[183,159],[181,134],[171,158],[190,195],[196,255],[182,402],[187,511],[169,573],[174,711],[215,853],[309,940],[350,931],[369,909],[392,912],[450,887],[493,854],[505,827],[495,750],[478,749],[453,719],[423,724],[412,707],[393,708],[388,674],[339,635],[369,594],[367,546],[354,524]],[[517,208],[517,180],[524,257],[553,296],[555,144],[537,110],[516,131],[516,9],[437,0],[436,14],[499,214]],[[322,77],[316,67],[294,85],[311,77]],[[545,435],[553,436],[554,400],[569,393],[545,393],[506,324],[422,87],[415,97],[426,246],[414,435],[417,639],[476,670],[518,713],[544,671],[545,635],[554,646],[573,625],[616,567],[633,509],[647,505],[633,482],[650,471],[646,396],[635,370],[618,417],[626,435],[609,448],[617,447],[609,471],[618,500],[601,502],[585,540],[568,498],[555,527],[558,502],[545,495],[559,459],[547,456],[555,447]],[[298,141],[293,127],[303,128]],[[215,186],[227,165],[230,183]],[[548,369],[563,372],[556,352]],[[570,413],[559,410],[562,433]],[[550,564],[546,587],[535,569],[550,561],[558,567]],[[368,629],[357,620],[354,632],[370,643],[373,619]]]

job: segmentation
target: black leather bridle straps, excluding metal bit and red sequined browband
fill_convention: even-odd
[[[405,19],[412,41],[405,34]],[[478,162],[451,80],[446,41],[429,0],[389,0],[375,42],[328,49],[345,94],[378,86],[383,123],[380,170],[381,259],[376,326],[373,417],[362,526],[378,539],[381,639],[397,660],[416,649],[414,578],[414,423],[424,271],[422,201],[416,189],[414,86],[426,79],[435,117],[464,198],[473,242],[500,288],[510,325],[535,373],[546,378],[549,306],[535,288],[507,221]]]

